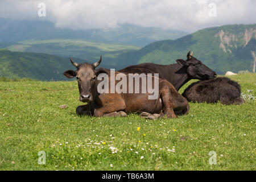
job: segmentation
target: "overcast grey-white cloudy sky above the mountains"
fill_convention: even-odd
[[[46,17],[38,16],[41,2]],[[255,7],[255,0],[1,0],[0,18],[48,20],[56,27],[73,29],[108,30],[129,23],[195,32],[223,24],[256,23]]]

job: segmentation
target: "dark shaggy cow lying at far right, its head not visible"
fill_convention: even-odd
[[[197,81],[184,90],[182,96],[192,102],[221,104],[243,104],[245,101],[240,98],[240,85],[226,77],[218,77],[212,80]]]

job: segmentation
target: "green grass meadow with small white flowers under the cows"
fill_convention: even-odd
[[[255,74],[230,78],[255,96]],[[255,101],[189,103],[189,114],[177,119],[79,117],[76,81],[0,85],[0,170],[255,170]]]

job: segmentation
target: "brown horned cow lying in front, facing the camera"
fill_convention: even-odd
[[[100,64],[101,59],[94,64],[77,64],[72,61],[72,64],[77,68],[76,71],[68,70],[63,74],[68,78],[77,78],[80,92],[80,101],[87,102],[86,105],[78,106],[77,114],[90,114],[96,117],[105,116],[126,116],[129,113],[152,113],[145,114],[147,118],[158,118],[162,110],[167,118],[176,118],[175,114],[187,114],[189,105],[187,100],[182,97],[166,80],[159,79],[159,92],[155,100],[148,100],[150,93],[99,93],[98,80],[100,73],[106,72],[106,69],[96,70],[95,68]],[[118,72],[114,72],[116,75]],[[122,73],[123,74],[123,73]],[[125,75],[125,74],[123,74]],[[103,81],[103,80],[102,80]],[[119,81],[115,80],[115,85]],[[152,85],[154,85],[154,77]],[[135,82],[134,82],[135,84]],[[153,86],[154,87],[154,86]],[[129,84],[127,81],[127,88]],[[135,87],[133,86],[135,89]],[[105,87],[104,87],[105,89]],[[141,91],[141,85],[140,85]],[[110,90],[110,77],[109,77]],[[154,114],[157,113],[157,114]]]

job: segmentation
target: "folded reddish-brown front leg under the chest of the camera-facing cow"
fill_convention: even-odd
[[[103,106],[100,108],[94,109],[94,115],[96,117],[126,116],[126,113],[122,111],[126,107],[125,101],[120,95],[106,96],[102,94],[99,96],[99,98]]]

